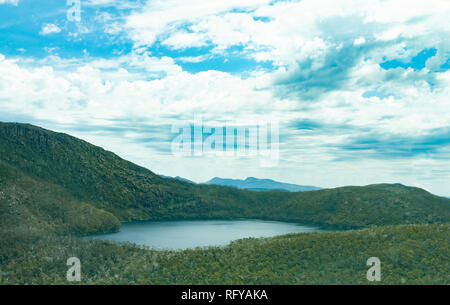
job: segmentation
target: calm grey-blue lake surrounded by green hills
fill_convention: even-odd
[[[128,241],[157,249],[224,246],[246,237],[271,237],[288,233],[323,232],[295,223],[264,220],[180,220],[123,223],[120,232],[90,238]]]

